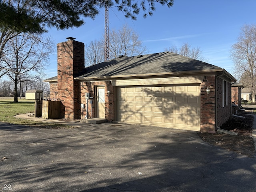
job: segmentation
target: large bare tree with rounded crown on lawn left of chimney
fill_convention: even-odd
[[[6,43],[2,60],[6,74],[14,82],[14,102],[18,102],[18,83],[43,73],[52,49],[51,38],[39,34],[20,33]]]

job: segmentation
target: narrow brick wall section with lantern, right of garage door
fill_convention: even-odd
[[[206,89],[210,88],[209,96]],[[207,76],[201,83],[201,132],[215,131],[215,76]]]

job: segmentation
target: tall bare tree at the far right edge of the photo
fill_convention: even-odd
[[[255,102],[256,88],[256,25],[244,25],[237,42],[232,45],[231,58],[238,78],[247,81],[251,90],[252,102]],[[243,76],[241,76],[243,75]]]

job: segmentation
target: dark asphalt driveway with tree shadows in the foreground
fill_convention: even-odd
[[[0,123],[0,160],[2,192],[256,191],[255,157],[170,128]]]

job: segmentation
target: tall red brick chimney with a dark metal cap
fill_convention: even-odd
[[[74,77],[84,70],[84,43],[67,38],[57,44],[58,99],[62,101],[61,118],[80,119],[80,82]]]

